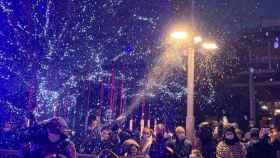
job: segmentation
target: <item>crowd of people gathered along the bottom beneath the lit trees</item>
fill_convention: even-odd
[[[65,120],[54,117],[24,130],[13,132],[9,123],[1,129],[0,148],[20,149],[22,158],[75,158],[77,153],[99,157],[128,158],[277,158],[280,151],[278,129],[251,128],[242,132],[236,124],[213,126],[201,123],[193,137],[183,127],[167,132],[158,123],[154,130],[141,132],[118,124],[100,126],[90,120],[87,131],[72,136]],[[72,140],[71,140],[72,139]],[[20,142],[20,143],[19,143]],[[74,145],[75,144],[75,145]],[[1,155],[1,158],[9,157]]]

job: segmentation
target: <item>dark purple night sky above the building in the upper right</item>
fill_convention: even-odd
[[[195,3],[200,24],[220,35],[256,27],[261,19],[280,18],[278,0],[196,0]]]

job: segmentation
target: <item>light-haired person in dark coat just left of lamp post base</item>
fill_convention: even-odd
[[[192,151],[192,144],[186,138],[185,129],[181,126],[175,129],[175,138],[172,140],[175,157],[188,158]]]

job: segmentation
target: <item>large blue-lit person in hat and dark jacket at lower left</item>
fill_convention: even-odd
[[[68,138],[70,130],[63,118],[53,117],[25,132],[20,136],[21,140],[26,143],[31,142],[31,146],[28,152],[24,152],[21,157],[76,158],[74,143]]]

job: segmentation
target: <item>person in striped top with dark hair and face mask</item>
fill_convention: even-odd
[[[224,127],[223,140],[219,142],[216,149],[216,158],[245,158],[246,149],[240,143],[234,127]]]

